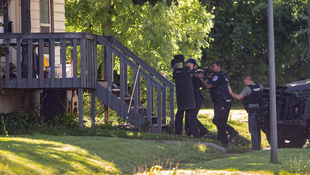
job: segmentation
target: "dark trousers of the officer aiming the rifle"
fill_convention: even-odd
[[[232,100],[226,99],[214,103],[214,117],[212,123],[217,128],[217,140],[221,141],[223,145],[228,144],[227,132],[230,134],[235,132],[235,129],[227,124],[230,108],[232,107]]]

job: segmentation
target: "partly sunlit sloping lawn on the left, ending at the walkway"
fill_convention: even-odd
[[[185,164],[225,157],[197,144],[107,137],[0,137],[0,147],[0,174],[130,174],[158,159]]]

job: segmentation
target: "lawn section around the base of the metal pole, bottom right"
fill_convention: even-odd
[[[295,161],[294,161],[295,159]],[[185,165],[184,169],[209,169],[226,171],[248,171],[259,174],[309,174],[310,152],[308,149],[278,149],[279,164],[270,163],[270,150],[235,155],[224,159]]]

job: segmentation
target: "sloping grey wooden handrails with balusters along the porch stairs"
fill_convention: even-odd
[[[134,77],[136,77],[138,72],[138,65],[141,65],[143,69],[140,69],[138,80],[140,77],[146,79],[147,87],[147,120],[151,123],[151,113],[154,112],[154,88],[157,89],[157,132],[161,132],[162,124],[166,123],[166,110],[167,110],[167,87],[169,88],[169,103],[170,103],[170,126],[174,128],[174,87],[175,85],[158,73],[154,68],[148,65],[135,53],[131,52],[130,49],[125,47],[113,36],[100,36],[98,35],[97,41],[104,45],[104,50],[108,54],[107,58],[110,58],[110,54],[115,54],[120,59],[120,90],[121,90],[121,104],[124,103],[124,92],[127,92],[127,65],[133,69]],[[131,59],[129,59],[131,58]],[[107,64],[110,65],[110,59],[107,59]],[[107,66],[107,79],[108,87],[111,87],[111,66]],[[145,70],[145,71],[144,71]],[[158,81],[157,81],[158,80]],[[138,105],[141,101],[140,99],[140,81],[137,81],[137,84],[134,89],[134,105]],[[108,92],[108,98],[111,92]],[[122,111],[122,110],[121,110]],[[121,115],[122,116],[122,115]],[[151,129],[151,127],[149,128]]]

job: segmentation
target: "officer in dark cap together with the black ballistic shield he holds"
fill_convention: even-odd
[[[185,112],[186,134],[190,136],[193,131],[193,137],[198,139],[209,131],[197,119],[198,111],[204,101],[204,92],[200,80],[191,73],[191,71],[196,71],[195,65],[195,59],[189,58],[184,61],[183,55],[175,55],[174,59],[171,60],[178,105],[178,111],[175,114],[175,134],[182,135]],[[198,128],[200,129],[200,134]]]

